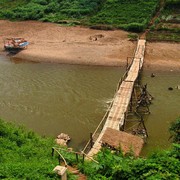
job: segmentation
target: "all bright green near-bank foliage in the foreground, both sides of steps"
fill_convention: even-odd
[[[93,161],[77,162],[74,154],[61,151],[68,165],[77,167],[90,180],[99,179],[179,179],[180,117],[171,125],[172,148],[154,152],[147,158],[135,158],[102,149]],[[58,164],[51,156],[54,140],[42,138],[23,127],[0,120],[0,179],[58,179],[52,172]],[[68,178],[76,179],[68,173]]]

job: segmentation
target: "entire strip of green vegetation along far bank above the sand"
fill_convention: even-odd
[[[0,19],[81,24],[132,32],[150,28],[149,41],[179,42],[179,9],[179,0],[1,0]]]

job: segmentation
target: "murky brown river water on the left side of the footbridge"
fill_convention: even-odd
[[[101,121],[123,70],[0,59],[0,117],[41,135],[68,133],[82,148]]]

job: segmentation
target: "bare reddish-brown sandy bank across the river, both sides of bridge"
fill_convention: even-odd
[[[4,38],[23,37],[30,45],[14,58],[33,62],[123,66],[136,48],[136,42],[129,41],[128,32],[121,30],[102,31],[37,21],[7,20],[0,20],[0,26],[0,54],[6,54]],[[147,43],[144,67],[179,70],[179,44]]]

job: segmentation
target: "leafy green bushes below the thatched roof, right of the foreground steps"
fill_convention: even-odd
[[[147,159],[135,159],[104,149],[96,157],[99,164],[85,162],[79,164],[79,168],[90,180],[179,179],[179,150],[180,145],[175,145],[170,151],[155,152]]]

